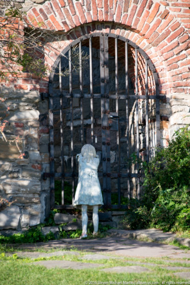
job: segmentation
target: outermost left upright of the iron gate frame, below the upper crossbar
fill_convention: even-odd
[[[49,95],[49,128],[50,128],[50,207],[55,205],[55,169],[54,169],[54,113],[53,96]]]

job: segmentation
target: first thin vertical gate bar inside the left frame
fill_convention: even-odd
[[[63,94],[62,94],[62,60],[59,63],[60,80],[60,132],[61,132],[61,169],[62,169],[62,205],[64,205],[64,144],[63,144]]]

